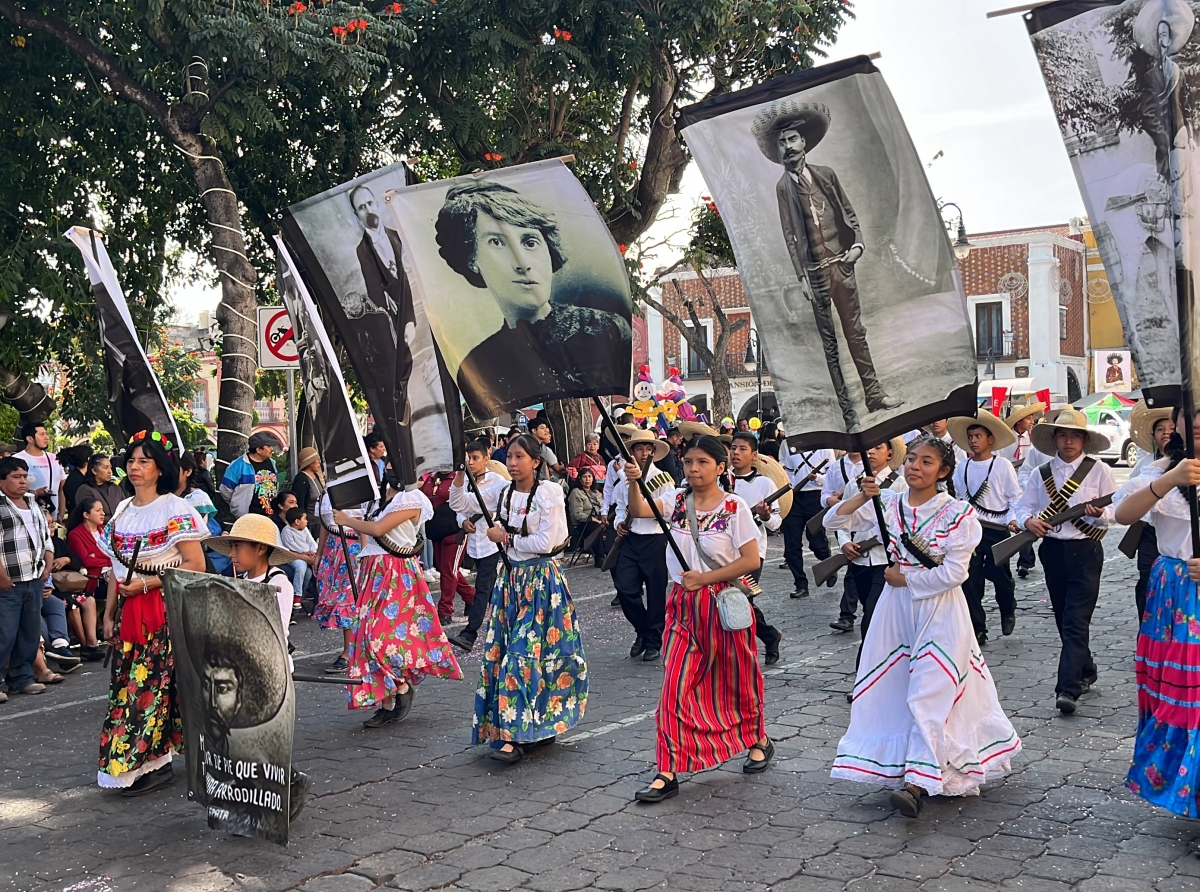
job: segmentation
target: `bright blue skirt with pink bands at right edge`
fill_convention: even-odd
[[[1188,567],[1159,557],[1138,634],[1138,737],[1126,786],[1200,818],[1200,588]]]

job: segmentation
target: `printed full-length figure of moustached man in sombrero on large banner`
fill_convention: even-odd
[[[841,369],[835,310],[863,384],[866,411],[896,408],[901,401],[883,390],[863,325],[854,264],[866,249],[858,216],[838,174],[808,160],[828,130],[824,104],[796,100],[770,103],[751,126],[760,151],[784,168],[775,185],[779,222],[803,293],[812,305],[841,413],[852,426],[859,421],[858,411]]]

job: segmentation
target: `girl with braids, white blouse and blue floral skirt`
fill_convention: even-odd
[[[487,538],[511,569],[492,588],[472,743],[490,743],[491,758],[511,765],[583,718],[588,666],[556,559],[570,534],[563,489],[539,480],[541,445],[529,435],[509,441],[506,463],[512,483]]]

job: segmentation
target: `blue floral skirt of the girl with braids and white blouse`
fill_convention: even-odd
[[[554,737],[587,702],[583,640],[558,562],[514,562],[492,591],[472,743]]]

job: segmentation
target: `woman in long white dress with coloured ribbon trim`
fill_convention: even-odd
[[[899,788],[892,804],[906,818],[920,814],[926,792],[978,795],[980,784],[1008,774],[1021,748],[962,594],[983,527],[967,502],[938,490],[953,473],[953,444],[920,437],[908,444],[907,492],[881,492],[864,478],[859,493],[834,509],[851,515],[880,496],[893,563],[832,774]]]

